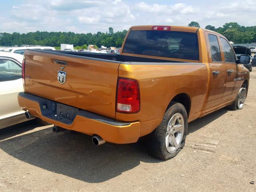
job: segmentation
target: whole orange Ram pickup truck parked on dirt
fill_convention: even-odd
[[[120,54],[26,50],[18,95],[26,116],[105,141],[147,135],[153,156],[183,148],[188,122],[244,106],[249,71],[228,40],[196,27],[133,26]]]

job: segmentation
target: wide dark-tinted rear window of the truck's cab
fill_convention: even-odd
[[[176,31],[130,31],[123,52],[159,57],[199,60],[195,33]]]

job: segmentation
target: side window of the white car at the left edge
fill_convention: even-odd
[[[21,66],[12,60],[0,58],[0,82],[21,78]]]

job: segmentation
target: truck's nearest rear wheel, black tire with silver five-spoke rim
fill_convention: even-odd
[[[159,159],[175,157],[185,145],[188,116],[185,107],[171,102],[160,125],[148,136],[149,153]]]

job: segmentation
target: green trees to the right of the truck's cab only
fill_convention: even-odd
[[[200,27],[198,22],[190,22],[188,26]],[[256,26],[240,26],[236,22],[225,23],[222,27],[214,27],[207,25],[205,27],[208,30],[212,30],[224,35],[229,41],[234,43],[255,43],[256,42]]]

